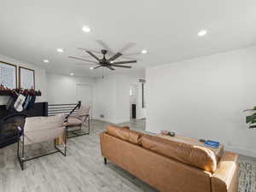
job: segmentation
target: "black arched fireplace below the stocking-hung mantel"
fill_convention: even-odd
[[[25,114],[9,115],[0,121],[0,148],[15,143],[18,138],[18,129],[25,125]]]

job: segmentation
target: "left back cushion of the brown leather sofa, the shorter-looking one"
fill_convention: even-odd
[[[127,126],[119,127],[115,125],[109,125],[106,128],[106,131],[109,135],[113,137],[118,137],[127,142],[141,145],[141,138],[143,134],[137,131],[132,131]]]

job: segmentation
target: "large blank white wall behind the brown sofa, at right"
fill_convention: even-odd
[[[256,106],[256,47],[150,67],[147,131],[177,131],[256,157],[256,130],[243,109]]]

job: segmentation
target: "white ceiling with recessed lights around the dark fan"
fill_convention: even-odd
[[[125,54],[138,55],[133,69],[209,55],[256,43],[255,0],[3,0],[0,11],[0,54],[46,67],[52,73],[98,77],[102,70],[76,66],[68,55],[78,47],[113,50],[136,43]],[[82,32],[82,26],[91,32]],[[197,36],[207,29],[203,38]],[[65,49],[60,54],[57,48]],[[89,57],[88,57],[89,58]],[[50,61],[49,64],[43,62]]]

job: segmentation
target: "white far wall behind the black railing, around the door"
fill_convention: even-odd
[[[78,102],[76,84],[89,84],[91,88],[93,88],[94,84],[94,79],[53,73],[46,73],[46,79],[49,104]]]

